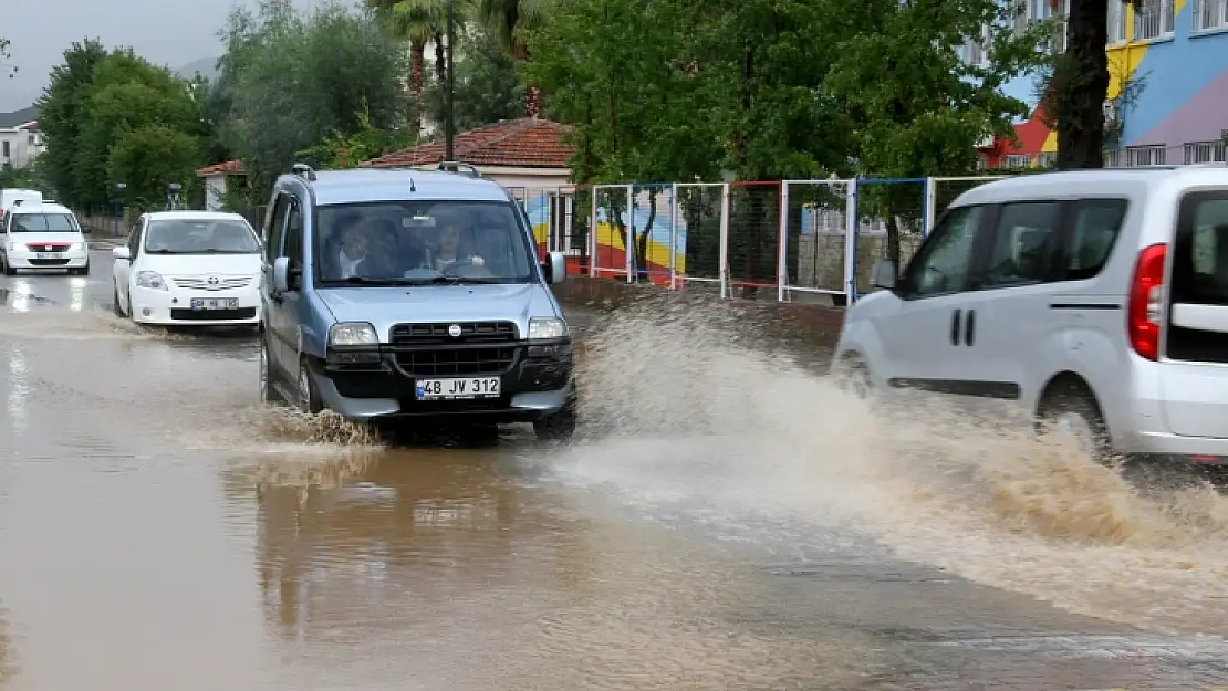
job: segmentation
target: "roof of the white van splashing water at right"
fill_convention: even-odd
[[[1223,163],[1152,166],[1140,168],[1089,168],[1014,176],[989,182],[960,194],[952,206],[1002,204],[1024,198],[1066,199],[1079,195],[1181,189],[1201,185],[1228,187]]]

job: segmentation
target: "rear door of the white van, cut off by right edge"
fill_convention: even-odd
[[[1228,190],[1181,198],[1160,390],[1169,428],[1228,438]]]

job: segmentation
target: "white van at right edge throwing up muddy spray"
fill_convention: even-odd
[[[1228,168],[1023,176],[874,266],[834,369],[1003,401],[1097,455],[1228,463]]]

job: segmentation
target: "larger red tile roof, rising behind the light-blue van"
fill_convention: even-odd
[[[453,156],[474,166],[518,168],[566,168],[576,147],[562,136],[571,128],[539,118],[501,120],[492,125],[458,133]],[[375,168],[431,164],[443,161],[443,141],[410,146],[363,163]]]

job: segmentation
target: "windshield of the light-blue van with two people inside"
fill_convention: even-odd
[[[533,280],[511,203],[377,201],[317,211],[321,284],[518,284]]]

